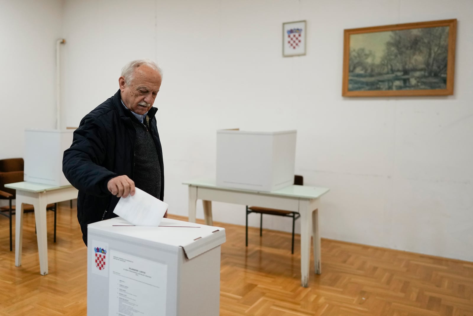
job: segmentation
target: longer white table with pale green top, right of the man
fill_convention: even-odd
[[[310,265],[310,237],[314,237],[315,273],[320,274],[320,235],[318,209],[320,197],[329,189],[291,185],[272,191],[260,192],[219,187],[214,180],[195,180],[183,182],[189,186],[189,221],[195,223],[197,199],[202,200],[205,224],[212,226],[212,202],[253,205],[265,208],[278,208],[300,214],[300,271],[301,285],[307,288]]]

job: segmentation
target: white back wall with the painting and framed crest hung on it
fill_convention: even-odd
[[[343,29],[447,18],[458,19],[453,96],[341,97]],[[282,58],[282,22],[301,19],[307,55]],[[182,181],[215,175],[217,129],[296,128],[296,173],[331,188],[323,237],[473,261],[471,0],[85,0],[66,1],[63,20],[67,126],[114,94],[127,61],[163,67],[170,213],[187,215]],[[213,211],[244,225],[244,206]]]

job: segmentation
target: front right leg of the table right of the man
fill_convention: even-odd
[[[299,200],[300,213],[300,276],[301,286],[307,288],[309,283],[310,237],[312,233],[312,212],[308,200]]]

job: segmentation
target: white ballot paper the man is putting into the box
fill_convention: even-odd
[[[159,226],[167,207],[167,203],[135,188],[135,195],[120,198],[114,213],[136,226]]]

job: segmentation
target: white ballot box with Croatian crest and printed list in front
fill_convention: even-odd
[[[218,316],[225,229],[163,218],[88,225],[88,316]]]

